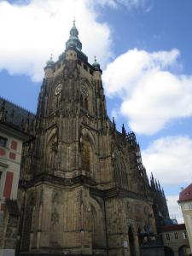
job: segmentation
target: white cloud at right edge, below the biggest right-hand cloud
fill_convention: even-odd
[[[190,137],[163,137],[143,150],[143,165],[160,183],[180,188],[183,183],[192,183],[191,155]]]

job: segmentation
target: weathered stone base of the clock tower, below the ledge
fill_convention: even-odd
[[[31,252],[41,253],[92,253],[106,249],[103,201],[91,197],[89,189],[82,185],[63,188],[44,184],[29,189],[24,216],[21,251],[26,251],[27,246]]]

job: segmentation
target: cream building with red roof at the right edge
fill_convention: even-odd
[[[183,219],[189,236],[189,244],[192,252],[192,183],[186,189],[181,191],[178,203],[183,213]]]

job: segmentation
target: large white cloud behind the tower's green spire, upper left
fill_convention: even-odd
[[[107,24],[87,0],[32,0],[11,4],[0,2],[0,69],[27,74],[34,81],[43,77],[50,53],[55,59],[65,49],[75,16],[84,52],[102,63],[111,55],[111,34]]]

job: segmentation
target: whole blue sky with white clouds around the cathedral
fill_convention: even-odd
[[[65,49],[73,16],[103,69],[108,114],[136,131],[171,215],[192,180],[191,0],[0,1],[0,95],[36,111],[44,65]]]

